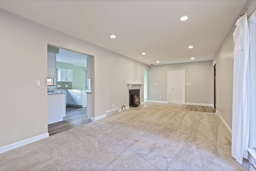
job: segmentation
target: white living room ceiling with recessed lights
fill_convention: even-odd
[[[193,61],[212,60],[246,2],[0,0],[0,8],[144,64],[156,65],[156,61],[192,62],[192,57]],[[188,20],[180,21],[184,15]],[[116,38],[111,39],[111,34]],[[190,45],[194,48],[188,49]],[[146,55],[142,56],[142,52]]]

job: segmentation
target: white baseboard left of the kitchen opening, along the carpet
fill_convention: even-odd
[[[22,141],[18,141],[16,143],[12,143],[12,144],[9,144],[9,145],[5,145],[3,147],[0,147],[0,153],[4,153],[6,151],[9,151],[11,149],[15,149],[15,148],[18,148],[18,147],[21,147],[23,145],[27,145],[29,143],[33,143],[35,141],[38,141],[40,139],[44,139],[46,137],[49,137],[49,133],[44,133],[42,135],[38,135],[36,137],[32,137],[32,138],[28,138],[28,139],[24,139]]]

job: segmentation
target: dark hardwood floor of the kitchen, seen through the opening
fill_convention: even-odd
[[[63,117],[63,121],[49,124],[48,133],[51,136],[89,122],[86,107],[66,106],[66,117]]]

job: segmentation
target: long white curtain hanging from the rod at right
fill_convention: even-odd
[[[248,157],[250,131],[250,61],[247,14],[236,22],[232,113],[232,157],[242,164]]]

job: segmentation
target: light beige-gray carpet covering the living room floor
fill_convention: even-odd
[[[0,170],[249,170],[214,113],[144,104],[0,154]]]

